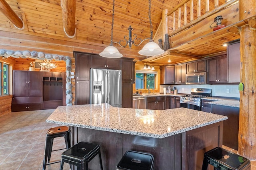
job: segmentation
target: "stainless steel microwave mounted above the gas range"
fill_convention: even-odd
[[[186,85],[205,85],[206,72],[186,74]]]

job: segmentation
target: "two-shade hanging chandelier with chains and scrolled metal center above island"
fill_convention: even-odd
[[[133,30],[133,28],[131,26],[129,26],[129,28],[128,28],[128,30],[129,30],[129,37],[124,36],[124,40],[120,40],[119,42],[113,42],[113,25],[114,25],[114,0],[113,0],[111,42],[110,42],[110,46],[106,47],[104,49],[104,51],[102,51],[100,53],[100,56],[108,57],[108,58],[119,58],[119,57],[122,57],[123,55],[120,54],[118,49],[116,49],[116,47],[113,46],[113,43],[117,43],[121,47],[126,47],[128,45],[129,48],[131,48],[132,45],[138,46],[142,42],[144,42],[145,40],[149,40],[149,42],[146,43],[146,45],[144,45],[144,47],[139,51],[140,55],[152,56],[152,55],[161,55],[161,54],[164,53],[164,50],[161,49],[157,43],[154,43],[154,40],[152,38],[153,37],[153,26],[152,26],[152,21],[151,21],[151,0],[148,0],[148,7],[149,7],[148,17],[149,17],[149,21],[150,21],[150,38],[146,38],[144,40],[142,40],[141,38],[137,39],[137,35],[134,34],[133,35],[134,39],[132,39],[132,30]],[[127,38],[128,38],[128,40],[127,40]],[[135,44],[134,41],[138,41],[140,43]],[[125,44],[121,45],[121,43],[125,43]]]

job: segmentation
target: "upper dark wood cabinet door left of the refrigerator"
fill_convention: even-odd
[[[90,80],[91,55],[75,53],[75,60],[76,80]]]

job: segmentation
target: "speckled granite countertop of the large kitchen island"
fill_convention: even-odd
[[[186,108],[146,110],[112,107],[106,103],[59,106],[48,123],[123,134],[165,138],[228,119]]]

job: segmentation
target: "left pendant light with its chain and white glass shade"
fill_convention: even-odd
[[[106,58],[120,58],[123,55],[118,51],[116,47],[113,46],[113,25],[114,25],[114,6],[115,0],[113,0],[113,14],[112,14],[112,26],[111,26],[111,41],[110,45],[106,47],[101,53],[100,56]]]

